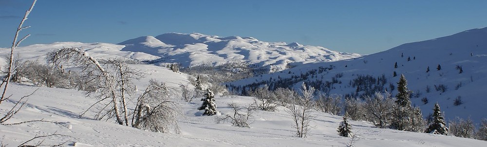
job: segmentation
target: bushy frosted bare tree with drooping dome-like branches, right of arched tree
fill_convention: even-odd
[[[150,80],[146,91],[137,99],[132,127],[153,132],[180,133],[177,121],[185,118],[180,105],[173,101],[164,83]]]

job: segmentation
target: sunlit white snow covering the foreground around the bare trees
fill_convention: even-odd
[[[12,101],[29,94],[37,87],[11,85],[13,99],[1,105],[3,113]],[[48,137],[44,143],[54,144],[69,140],[66,146],[75,147],[345,147],[349,138],[337,135],[340,116],[315,112],[311,122],[315,129],[307,138],[293,137],[292,121],[280,108],[277,112],[257,111],[252,128],[236,128],[229,124],[216,124],[216,116],[200,116],[196,110],[200,101],[179,102],[187,116],[179,124],[181,134],[154,133],[117,125],[113,122],[78,118],[79,112],[95,102],[82,92],[74,90],[39,88],[26,107],[9,123],[44,119],[62,122],[69,129],[48,123],[27,123],[14,126],[0,125],[0,140],[8,146],[17,146],[35,135],[60,133],[71,137]],[[226,103],[239,105],[252,102],[250,97],[217,97],[216,103],[223,114],[231,110]],[[376,129],[366,122],[350,121],[358,134],[356,147],[482,147],[485,141],[414,133],[393,129]]]

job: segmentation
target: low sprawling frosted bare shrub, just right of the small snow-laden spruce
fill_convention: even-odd
[[[223,117],[217,117],[216,122],[222,123],[222,122],[230,122],[232,126],[235,127],[244,127],[244,128],[250,128],[250,123],[249,117],[252,116],[253,112],[257,110],[255,104],[248,104],[244,107],[245,111],[242,112],[241,110],[243,109],[242,107],[239,107],[235,103],[230,103],[228,104],[228,107],[233,109],[233,116],[229,114],[225,114]]]

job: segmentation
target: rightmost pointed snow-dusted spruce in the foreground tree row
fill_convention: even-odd
[[[448,135],[448,127],[441,114],[440,105],[438,105],[438,103],[434,104],[433,123],[425,130],[425,133]]]

